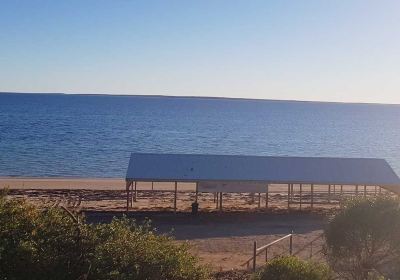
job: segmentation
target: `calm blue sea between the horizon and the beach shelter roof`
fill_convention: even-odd
[[[131,152],[386,158],[400,106],[0,94],[0,176],[123,177]]]

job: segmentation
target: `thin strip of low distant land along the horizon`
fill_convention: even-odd
[[[233,101],[265,101],[265,102],[293,102],[293,103],[326,103],[326,104],[349,104],[349,105],[384,105],[400,106],[398,103],[372,103],[372,102],[344,102],[344,101],[312,101],[295,99],[262,99],[246,97],[224,97],[224,96],[196,96],[196,95],[162,95],[162,94],[111,94],[111,93],[65,93],[65,92],[0,92],[1,94],[20,94],[20,95],[76,95],[76,96],[110,96],[110,97],[141,97],[141,98],[171,98],[171,99],[203,99],[203,100],[233,100]]]

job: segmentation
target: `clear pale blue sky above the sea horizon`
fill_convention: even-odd
[[[0,91],[400,104],[400,1],[2,0]]]

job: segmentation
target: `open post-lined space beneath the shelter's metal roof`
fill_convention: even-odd
[[[340,208],[347,199],[379,195],[396,194],[381,186],[368,185],[265,184],[264,192],[199,192],[195,182],[128,181],[126,210],[191,211],[192,203],[205,211],[312,210]]]

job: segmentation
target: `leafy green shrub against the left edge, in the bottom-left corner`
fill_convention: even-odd
[[[90,238],[61,209],[0,198],[3,279],[77,279],[89,267]]]

